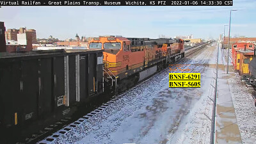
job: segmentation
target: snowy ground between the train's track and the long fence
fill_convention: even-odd
[[[169,88],[163,70],[52,143],[209,143],[216,44],[180,63],[201,73],[201,88]]]

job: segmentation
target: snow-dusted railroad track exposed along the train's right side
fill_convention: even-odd
[[[186,59],[186,58],[188,56],[191,56],[191,54],[193,54],[193,53],[199,51],[200,49],[204,48],[206,45],[208,45],[208,43],[207,44],[198,45],[196,47],[188,49],[185,52],[185,57],[180,59],[179,61],[176,61],[175,63],[188,63],[188,59]],[[157,74],[155,74],[155,75],[157,75]],[[145,80],[145,81],[147,81],[147,80]],[[141,81],[140,83],[144,83],[145,81]],[[140,83],[138,83],[138,84],[140,84]],[[133,88],[131,88],[131,89],[129,89],[129,90],[123,92],[123,93],[120,93],[118,95],[114,95],[111,100],[109,100],[106,103],[103,103],[98,108],[95,108],[90,113],[84,115],[81,118],[78,118],[75,122],[72,122],[71,124],[65,123],[65,122],[68,122],[68,119],[69,119],[69,118],[66,118],[66,119],[61,120],[61,122],[57,122],[56,124],[53,124],[53,125],[50,125],[49,127],[46,127],[44,129],[44,131],[40,131],[40,134],[33,134],[32,138],[28,138],[28,140],[27,140],[28,142],[27,143],[31,143],[32,141],[34,141],[34,143],[35,143],[36,140],[37,141],[41,140],[41,141],[37,142],[38,144],[55,143],[56,141],[58,141],[59,137],[67,134],[70,130],[72,130],[72,129],[80,129],[81,127],[83,127],[83,123],[85,123],[93,115],[96,115],[100,111],[103,111],[104,109],[106,109],[108,106],[111,106],[112,104],[115,104],[115,102],[117,100],[119,100],[122,97],[125,97],[125,95],[131,94],[134,90],[136,90],[136,86],[138,86],[138,84],[136,84]],[[51,134],[50,136],[47,136],[46,138],[44,138],[44,140],[42,140],[42,138],[45,137],[45,134],[49,135],[49,131],[52,132],[53,129],[56,129],[56,127],[60,127],[61,124],[63,125],[63,127],[61,127],[58,131],[54,132],[53,134]],[[49,131],[47,131],[47,130],[49,130]]]

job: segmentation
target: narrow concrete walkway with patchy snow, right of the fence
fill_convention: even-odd
[[[220,51],[221,52],[221,51]],[[218,95],[216,108],[216,143],[242,143],[239,126],[237,125],[236,111],[232,100],[232,92],[228,79],[236,76],[232,72],[232,67],[228,67],[227,73],[227,57],[221,56],[220,53],[218,70]]]

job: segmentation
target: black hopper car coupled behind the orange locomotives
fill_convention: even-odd
[[[0,143],[39,131],[104,91],[102,50],[0,52]]]

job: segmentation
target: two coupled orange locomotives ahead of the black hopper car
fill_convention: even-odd
[[[105,81],[125,90],[184,57],[184,40],[101,36],[89,41],[89,49],[104,49]]]

